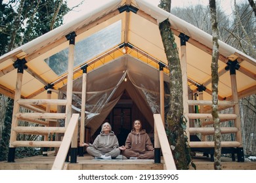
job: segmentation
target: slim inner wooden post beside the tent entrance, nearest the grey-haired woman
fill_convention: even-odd
[[[82,101],[81,101],[81,124],[80,124],[80,143],[85,142],[85,104],[86,104],[86,85],[87,85],[87,67],[84,65],[83,70],[83,85],[82,85]],[[83,156],[83,147],[79,147],[79,156]]]

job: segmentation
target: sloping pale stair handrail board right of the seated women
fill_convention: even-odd
[[[167,170],[176,170],[173,154],[171,153],[171,148],[169,146],[167,135],[165,133],[163,121],[161,120],[161,115],[154,114],[154,121],[155,121],[156,131],[158,133],[158,138],[161,145],[163,160],[165,161],[165,167]]]

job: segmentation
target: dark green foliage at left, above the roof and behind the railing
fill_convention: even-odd
[[[7,3],[0,1],[0,56],[9,52],[9,44],[11,43],[12,34],[14,47],[20,46],[26,42],[49,32],[63,24],[63,16],[70,10],[66,1],[62,3],[60,10],[55,18],[60,0],[41,0],[41,1],[24,1],[24,7],[20,14],[20,22],[18,27],[14,25],[14,20],[18,15],[16,10],[20,1],[9,0]],[[38,4],[39,3],[39,4]],[[53,24],[54,23],[54,24]],[[9,151],[9,140],[11,134],[12,108],[13,100],[9,99],[7,113],[5,114],[5,122],[3,125],[2,138],[0,139],[0,161],[7,160]],[[28,135],[18,135],[19,138],[35,140],[36,137]],[[24,158],[28,156],[38,155],[40,151],[37,148],[16,148],[16,158]]]

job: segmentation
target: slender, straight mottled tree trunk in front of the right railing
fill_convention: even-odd
[[[217,24],[217,12],[215,0],[209,0],[209,7],[211,11],[211,27],[213,31],[213,56],[211,59],[211,88],[212,88],[212,112],[214,122],[214,139],[215,139],[215,152],[214,152],[214,169],[221,169],[221,126],[218,112],[218,59],[219,59],[219,29]]]

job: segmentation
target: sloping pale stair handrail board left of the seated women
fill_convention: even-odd
[[[72,141],[72,138],[76,138],[73,140],[77,142],[78,119],[79,119],[79,114],[72,114],[72,118],[68,123],[68,127],[66,129],[62,143],[60,145],[60,149],[58,150],[58,154],[54,160],[52,170],[63,169],[64,162],[68,154],[68,149],[70,148],[70,143]]]

